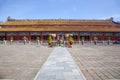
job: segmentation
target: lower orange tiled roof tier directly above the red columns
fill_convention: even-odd
[[[120,32],[120,28],[0,28],[1,31],[92,31],[92,32]]]

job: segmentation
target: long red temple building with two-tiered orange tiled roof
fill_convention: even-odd
[[[78,19],[41,19],[41,20],[18,20],[8,18],[0,23],[0,40],[14,41],[22,40],[24,36],[29,41],[36,40],[46,42],[48,35],[52,35],[54,40],[62,38],[67,40],[69,35],[73,36],[76,42],[93,41],[94,37],[98,41],[111,41],[120,39],[120,24],[107,20],[78,20]]]

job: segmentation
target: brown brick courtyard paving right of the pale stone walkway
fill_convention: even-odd
[[[87,80],[120,80],[120,45],[75,45],[68,51]]]

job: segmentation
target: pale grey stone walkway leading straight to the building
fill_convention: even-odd
[[[70,53],[56,47],[34,80],[86,80]]]

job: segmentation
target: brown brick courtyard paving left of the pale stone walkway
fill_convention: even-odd
[[[33,80],[53,48],[0,44],[0,79]]]

